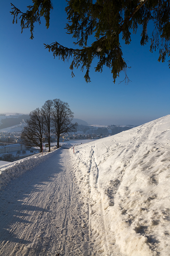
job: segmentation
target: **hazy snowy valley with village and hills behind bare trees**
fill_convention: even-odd
[[[27,125],[23,119],[29,118],[29,115],[11,114],[0,116],[0,160],[13,162],[32,154],[40,152],[38,147],[27,147],[21,140],[21,132]],[[133,125],[89,125],[81,119],[75,119],[78,122],[77,131],[70,132],[60,136],[60,143],[76,140],[94,140],[103,137],[108,137],[122,131],[133,128]],[[74,120],[73,120],[74,121]],[[15,125],[12,125],[15,124]],[[11,126],[9,126],[11,125]],[[51,133],[51,146],[56,144],[56,135]],[[48,149],[48,144],[45,142],[43,150]]]

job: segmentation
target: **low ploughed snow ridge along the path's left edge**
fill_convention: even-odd
[[[53,151],[55,147],[51,148]],[[38,153],[36,155],[26,157],[24,159],[0,166],[0,189],[16,177],[19,177],[26,171],[32,170],[35,166],[45,161],[53,152]]]

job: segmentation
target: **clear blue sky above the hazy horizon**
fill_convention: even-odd
[[[26,11],[31,0],[11,0]],[[53,1],[50,27],[37,24],[34,39],[29,29],[21,34],[20,20],[12,24],[11,1],[1,1],[0,8],[0,113],[30,113],[46,100],[59,98],[68,102],[74,117],[89,124],[140,125],[170,114],[170,69],[168,58],[159,63],[158,52],[150,53],[149,45],[140,46],[140,32],[131,37],[130,45],[122,44],[123,57],[131,67],[128,85],[119,84],[122,73],[113,83],[111,71],[102,73],[91,67],[91,83],[75,69],[71,77],[69,63],[53,58],[43,43],[55,41],[74,47],[71,35],[64,29],[65,1]]]

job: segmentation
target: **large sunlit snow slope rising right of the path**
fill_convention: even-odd
[[[100,255],[169,255],[169,139],[170,115],[70,150]]]

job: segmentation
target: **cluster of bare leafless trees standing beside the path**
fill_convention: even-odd
[[[53,133],[57,136],[59,148],[60,136],[77,130],[78,124],[71,122],[73,115],[67,102],[60,99],[45,101],[41,109],[37,108],[30,112],[30,119],[26,120],[27,125],[21,133],[22,142],[29,147],[40,147],[42,152],[42,143],[47,141],[50,152],[50,135]]]

